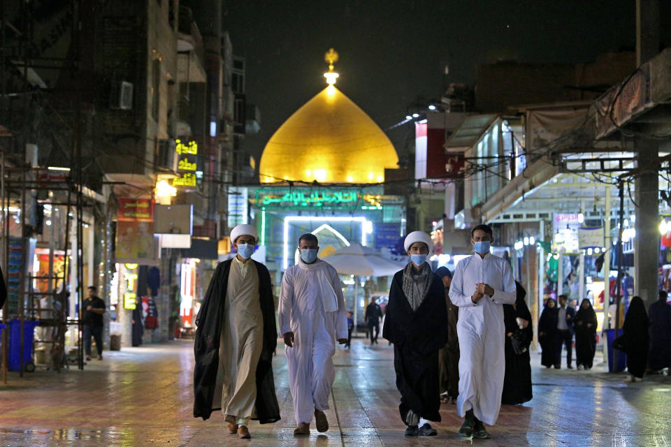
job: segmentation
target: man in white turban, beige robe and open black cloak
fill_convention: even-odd
[[[249,439],[250,419],[280,420],[275,301],[268,269],[252,260],[257,229],[238,225],[231,241],[237,254],[217,265],[196,316],[194,417],[206,420],[221,409],[229,433]]]

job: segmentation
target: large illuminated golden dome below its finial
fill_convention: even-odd
[[[377,183],[398,168],[396,149],[358,105],[329,85],[294,112],[261,155],[261,183]]]

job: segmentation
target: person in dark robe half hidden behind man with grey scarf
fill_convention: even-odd
[[[440,402],[456,404],[459,396],[459,337],[456,335],[456,323],[459,321],[459,307],[449,299],[449,286],[452,272],[445,266],[438,268],[435,274],[445,286],[447,305],[447,343],[438,351],[438,374],[440,377]]]

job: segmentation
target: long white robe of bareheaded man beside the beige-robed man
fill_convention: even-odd
[[[331,306],[334,297],[337,307]],[[334,312],[324,311],[325,302]],[[335,339],[347,339],[345,300],[338,273],[321,259],[312,264],[298,261],[289,267],[282,278],[277,314],[280,333],[294,332],[294,347],[287,346],[285,352],[296,425],[310,423],[315,409],[329,408],[335,379]]]

